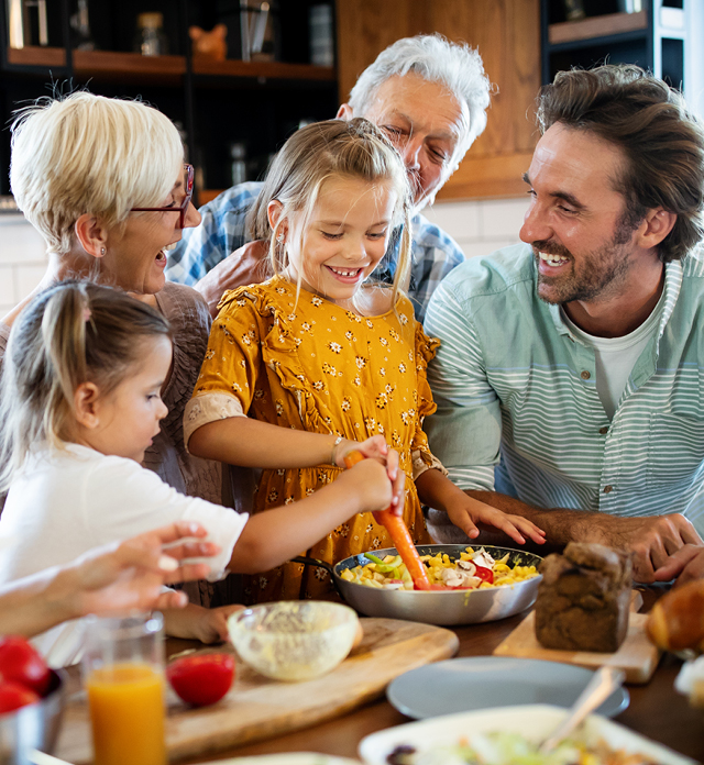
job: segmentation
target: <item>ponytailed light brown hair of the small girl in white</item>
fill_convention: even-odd
[[[125,292],[63,281],[38,295],[12,326],[0,379],[0,491],[36,442],[62,448],[86,381],[105,396],[139,359],[141,340],[165,335],[158,311]]]

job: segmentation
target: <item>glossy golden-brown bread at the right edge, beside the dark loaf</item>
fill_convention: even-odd
[[[704,579],[676,587],[660,598],[650,611],[647,631],[660,648],[704,652]]]

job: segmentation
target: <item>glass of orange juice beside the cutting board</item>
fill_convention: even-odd
[[[84,683],[95,765],[166,765],[161,613],[92,619]]]

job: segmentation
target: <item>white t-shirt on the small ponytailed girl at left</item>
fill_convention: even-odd
[[[94,547],[174,521],[198,521],[222,551],[208,558],[221,579],[248,515],[178,494],[132,459],[67,444],[36,448],[10,486],[0,517],[0,584],[69,563]],[[85,624],[67,622],[34,639],[53,667],[80,658]]]

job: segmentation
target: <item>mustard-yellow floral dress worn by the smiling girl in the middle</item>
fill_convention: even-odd
[[[228,393],[263,422],[364,441],[382,434],[400,454],[406,472],[404,519],[417,544],[430,541],[414,474],[439,465],[421,430],[435,411],[426,367],[439,342],[426,336],[405,296],[396,310],[364,318],[275,276],[263,285],[227,292],[212,324],[194,397]],[[191,403],[194,403],[191,401]],[[331,464],[266,469],[254,512],[293,502],[329,484]],[[372,513],[358,513],[306,554],[337,563],[392,546]],[[332,590],[322,568],[287,563],[245,577],[249,602],[326,597]]]

